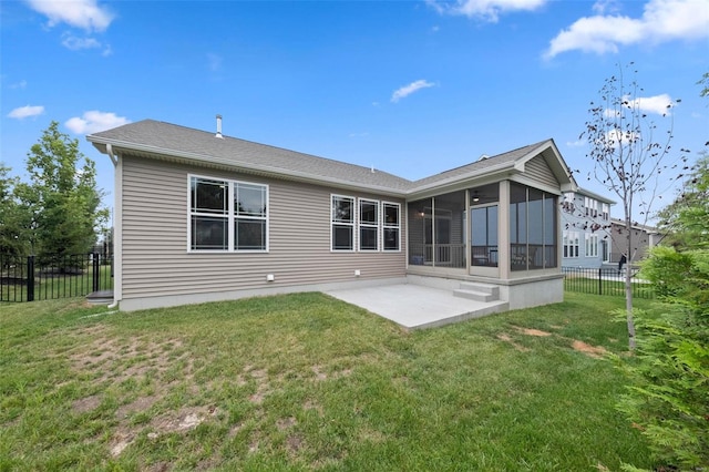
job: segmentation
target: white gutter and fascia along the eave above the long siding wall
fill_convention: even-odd
[[[408,193],[407,191],[399,191],[395,188],[384,187],[381,185],[364,185],[364,184],[352,183],[349,181],[342,181],[338,178],[318,178],[302,172],[291,172],[291,171],[284,172],[282,170],[277,170],[269,166],[259,166],[259,165],[251,165],[251,164],[238,165],[238,163],[234,163],[223,158],[206,157],[201,154],[176,152],[173,150],[166,150],[157,146],[141,145],[141,144],[134,144],[134,143],[129,143],[124,141],[117,141],[117,140],[103,140],[92,135],[86,136],[86,140],[89,140],[94,145],[94,147],[96,147],[103,154],[106,153],[106,146],[111,145],[114,152],[121,151],[121,152],[124,152],[125,154],[131,154],[131,152],[134,152],[134,153],[141,153],[148,156],[150,155],[158,156],[161,158],[187,161],[188,163],[196,162],[199,164],[219,166],[226,170],[238,170],[245,173],[273,175],[280,178],[295,179],[295,181],[308,183],[308,184],[327,185],[331,187],[351,188],[351,189],[360,189],[360,191],[367,191],[367,192],[377,192],[384,195],[390,195],[390,196],[395,196],[401,198],[405,197]]]

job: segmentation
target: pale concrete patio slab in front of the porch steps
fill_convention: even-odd
[[[477,290],[484,286],[472,286],[461,284],[460,289],[445,289],[395,284],[330,290],[327,294],[390,319],[405,329],[433,328],[508,309],[506,301],[491,299],[495,297]]]

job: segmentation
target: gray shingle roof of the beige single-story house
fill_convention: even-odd
[[[517,160],[545,143],[520,147],[412,182],[382,171],[372,172],[368,167],[235,137],[219,138],[215,137],[214,133],[154,120],[130,123],[91,134],[86,138],[101,152],[105,152],[103,145],[111,144],[119,150],[192,158],[281,176],[307,176],[309,179],[380,188],[400,194],[430,185],[435,186],[436,183],[443,184],[456,177],[472,176],[471,174],[477,172],[485,174],[491,168],[506,164],[513,166]]]

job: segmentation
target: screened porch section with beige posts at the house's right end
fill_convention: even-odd
[[[409,267],[510,279],[557,273],[557,193],[513,181],[408,203]]]

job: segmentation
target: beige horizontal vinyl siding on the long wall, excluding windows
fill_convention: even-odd
[[[123,156],[123,299],[405,275],[405,205],[381,195]],[[187,252],[188,175],[269,186],[268,253]],[[401,204],[401,250],[332,253],[332,193]],[[267,283],[266,275],[275,281]]]

